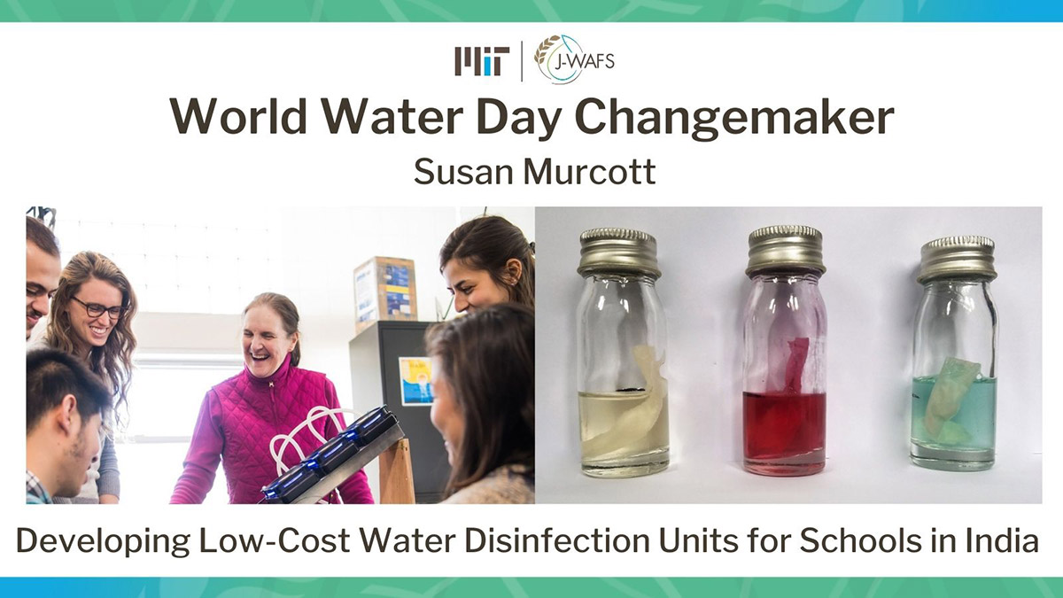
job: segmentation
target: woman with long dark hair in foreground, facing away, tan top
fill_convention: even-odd
[[[535,502],[535,313],[501,303],[437,325],[432,423],[451,463],[444,502]]]

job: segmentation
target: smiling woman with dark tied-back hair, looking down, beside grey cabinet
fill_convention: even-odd
[[[458,312],[506,301],[535,309],[535,244],[501,216],[454,229],[439,250],[439,271]]]

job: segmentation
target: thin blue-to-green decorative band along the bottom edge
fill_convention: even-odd
[[[352,561],[352,568],[356,566]],[[1063,578],[30,578],[0,579],[0,594],[79,598],[1044,598],[1063,595]]]

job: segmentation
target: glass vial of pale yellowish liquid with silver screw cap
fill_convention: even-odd
[[[669,465],[664,310],[657,240],[641,231],[579,236],[584,277],[576,331],[583,472],[634,478]]]

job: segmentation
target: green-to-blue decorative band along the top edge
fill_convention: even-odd
[[[1060,0],[0,0],[40,22],[1061,22]]]

